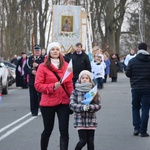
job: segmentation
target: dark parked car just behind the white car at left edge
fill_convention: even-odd
[[[7,60],[3,60],[3,63],[8,68],[9,71],[9,82],[8,86],[11,86],[13,83],[16,82],[16,65],[10,63]]]

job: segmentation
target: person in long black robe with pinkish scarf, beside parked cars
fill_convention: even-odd
[[[22,52],[21,58],[18,60],[16,66],[16,86],[22,87],[23,89],[28,88],[28,82],[27,82],[28,75],[24,71],[26,61],[27,61],[27,55],[25,52]]]

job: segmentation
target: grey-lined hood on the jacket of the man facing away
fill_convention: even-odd
[[[136,56],[137,59],[141,60],[141,61],[150,61],[150,54],[145,51],[145,50],[139,50],[137,52],[137,56]]]

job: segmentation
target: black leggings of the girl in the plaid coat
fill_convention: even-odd
[[[79,142],[75,150],[81,150],[87,144],[87,150],[94,150],[95,130],[78,130]]]

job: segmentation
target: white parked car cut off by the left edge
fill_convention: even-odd
[[[9,71],[4,63],[0,62],[0,93],[8,94]]]

